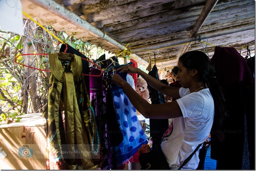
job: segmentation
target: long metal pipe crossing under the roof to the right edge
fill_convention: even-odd
[[[254,24],[252,25],[249,23],[249,24],[243,24],[240,26],[233,26],[232,28],[228,28],[228,29],[220,29],[221,31],[215,30],[215,31],[207,32],[207,33],[202,33],[201,37],[202,38],[203,37],[213,38],[213,37],[217,37],[217,36],[223,36],[223,35],[227,35],[227,34],[232,34],[232,33],[240,32],[240,31],[247,31],[247,30],[252,30],[252,29],[255,29],[255,25]],[[193,37],[188,37],[188,38],[176,39],[176,40],[168,41],[165,43],[159,43],[159,44],[155,44],[155,45],[134,48],[134,49],[131,49],[130,52],[136,53],[139,51],[156,50],[156,49],[163,48],[163,47],[169,47],[169,46],[174,46],[177,44],[193,42],[195,40],[199,40],[199,35],[196,35]]]

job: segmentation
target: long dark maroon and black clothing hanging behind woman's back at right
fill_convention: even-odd
[[[255,90],[251,71],[235,48],[216,46],[211,62],[229,115],[224,120],[224,141],[211,135],[211,158],[217,160],[217,169],[255,169]]]

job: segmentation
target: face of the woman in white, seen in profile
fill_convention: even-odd
[[[176,75],[176,79],[180,82],[183,88],[188,88],[190,86],[191,79],[191,71],[183,66],[183,64],[178,62],[178,74]]]

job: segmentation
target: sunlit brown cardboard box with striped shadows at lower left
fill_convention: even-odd
[[[1,170],[46,170],[44,122],[39,113],[26,114],[18,123],[0,125]]]

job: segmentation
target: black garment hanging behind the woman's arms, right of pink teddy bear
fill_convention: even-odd
[[[152,71],[148,72],[155,79],[159,80],[158,70],[156,65],[153,66]],[[151,104],[166,103],[164,95],[155,90],[150,85],[147,86]],[[160,144],[162,136],[169,127],[168,119],[149,119],[150,136],[152,137],[153,147]]]

